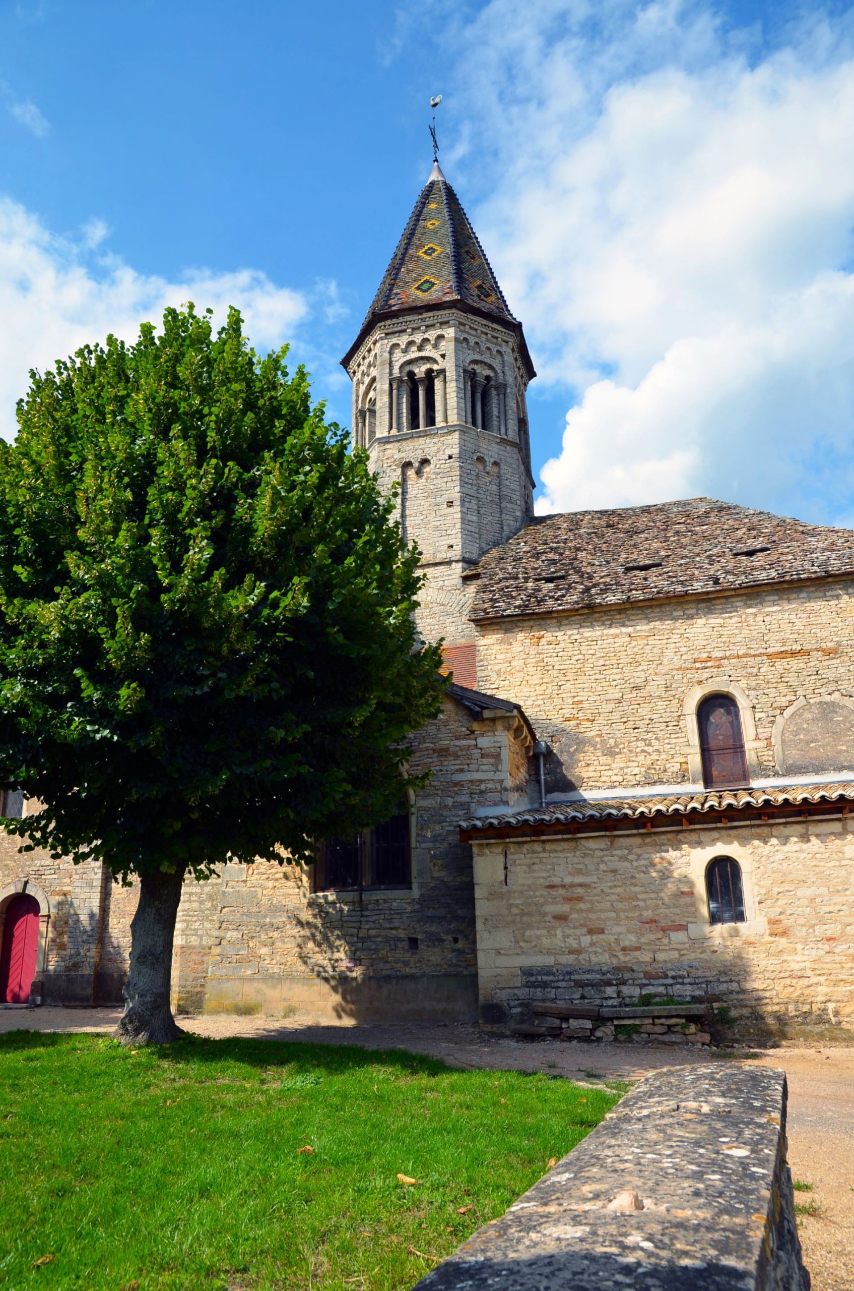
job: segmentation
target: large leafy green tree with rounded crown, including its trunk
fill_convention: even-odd
[[[366,456],[236,310],[31,373],[0,442],[0,786],[25,848],[138,877],[119,1037],[181,1034],[181,887],[390,817],[439,711]],[[413,781],[414,782],[414,781]]]

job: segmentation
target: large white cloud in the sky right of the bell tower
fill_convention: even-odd
[[[542,380],[577,391],[542,510],[853,518],[850,19],[760,49],[703,4],[492,0],[458,34],[461,154],[499,139],[476,222]]]

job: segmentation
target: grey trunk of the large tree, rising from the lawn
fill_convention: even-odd
[[[130,972],[123,991],[125,1011],[114,1032],[123,1044],[169,1044],[186,1034],[169,1003],[182,882],[183,870],[154,870],[139,880],[139,904],[130,923]]]

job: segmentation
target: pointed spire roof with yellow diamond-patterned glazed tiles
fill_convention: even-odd
[[[374,318],[445,301],[516,323],[459,198],[435,165],[361,330]]]

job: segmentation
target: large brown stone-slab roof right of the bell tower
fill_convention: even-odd
[[[471,618],[854,574],[854,532],[694,497],[535,519],[481,558]]]

